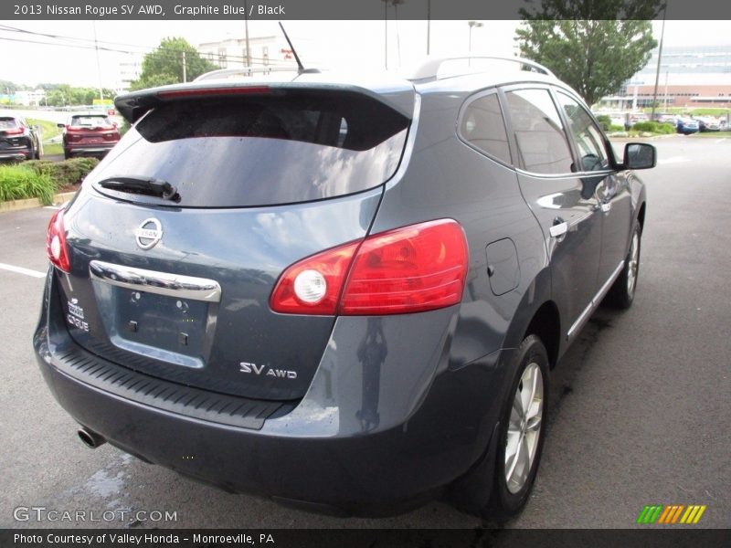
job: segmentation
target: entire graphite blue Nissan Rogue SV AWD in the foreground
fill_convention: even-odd
[[[531,61],[452,61],[116,99],[34,337],[87,446],[311,511],[524,506],[551,370],[634,298],[655,149]]]

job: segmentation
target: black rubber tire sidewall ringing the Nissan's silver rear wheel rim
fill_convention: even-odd
[[[546,420],[548,417],[548,388],[549,388],[549,363],[548,353],[543,342],[535,336],[529,335],[518,347],[514,361],[514,378],[510,384],[510,390],[503,404],[503,411],[501,413],[501,424],[498,428],[498,445],[497,455],[495,459],[495,478],[493,482],[493,497],[491,500],[493,516],[500,519],[508,519],[514,516],[516,513],[521,511],[528,500],[528,496],[533,489],[535,482],[535,475],[537,474],[541,453],[543,452],[543,445],[546,439]],[[541,417],[541,434],[538,437],[538,447],[535,449],[535,459],[533,462],[533,468],[528,475],[528,479],[525,481],[523,489],[517,493],[511,493],[507,488],[507,482],[505,479],[505,440],[507,437],[508,424],[510,422],[510,413],[513,407],[513,399],[515,391],[517,390],[518,384],[520,383],[521,376],[528,364],[538,364],[543,375],[543,390],[544,390],[544,404],[543,414]]]

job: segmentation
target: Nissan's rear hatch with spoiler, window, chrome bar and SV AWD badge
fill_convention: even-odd
[[[177,383],[302,397],[334,317],[275,313],[271,291],[292,263],[365,237],[408,117],[332,87],[178,89],[117,104],[141,119],[63,219],[71,336]]]

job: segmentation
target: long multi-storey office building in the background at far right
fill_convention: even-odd
[[[658,49],[617,95],[599,106],[619,110],[652,107]],[[698,107],[731,108],[731,44],[726,46],[663,47],[657,87],[660,110]]]

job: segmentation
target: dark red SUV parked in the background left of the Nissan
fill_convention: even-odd
[[[109,153],[120,141],[117,123],[105,112],[75,112],[63,128],[63,156],[99,156]]]

